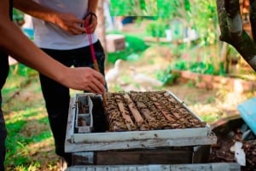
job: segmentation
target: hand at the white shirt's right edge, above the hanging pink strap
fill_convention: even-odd
[[[86,28],[87,34],[92,34],[96,30],[97,26],[97,17],[94,13],[89,13],[84,18],[84,25]]]

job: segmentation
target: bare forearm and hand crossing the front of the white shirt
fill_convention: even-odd
[[[84,20],[78,19],[74,14],[65,14],[53,9],[44,7],[32,0],[14,0],[14,6],[20,11],[30,14],[35,18],[48,21],[60,26],[64,31],[78,35],[84,31],[81,25]]]

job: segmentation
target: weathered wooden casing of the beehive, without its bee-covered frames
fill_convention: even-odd
[[[186,112],[201,120],[174,94],[167,93],[177,100]],[[77,94],[81,95],[83,94]],[[73,154],[73,165],[201,163],[207,162],[211,145],[217,142],[217,137],[207,124],[201,128],[110,132],[106,126],[108,119],[99,119],[106,117],[106,109],[100,105],[101,96],[90,96],[95,107],[92,110],[94,128],[89,133],[76,131],[77,98],[70,101],[65,150]],[[131,105],[130,102],[129,104]]]

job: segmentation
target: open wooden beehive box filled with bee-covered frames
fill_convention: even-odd
[[[88,94],[77,94],[83,95]],[[100,95],[89,95],[94,106],[90,133],[76,132],[77,98],[70,102],[65,150],[73,153],[74,165],[207,162],[217,142],[172,92],[108,93],[108,107]]]

